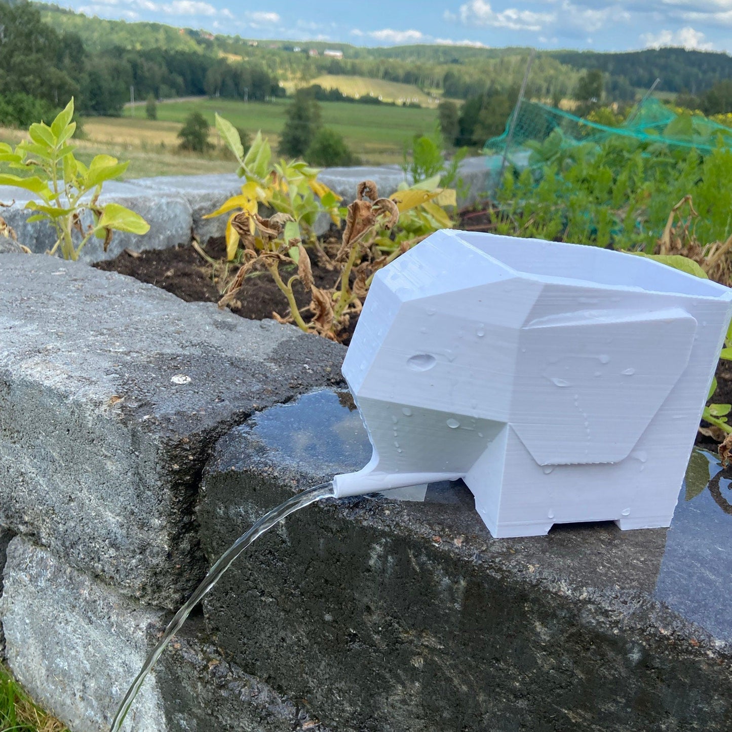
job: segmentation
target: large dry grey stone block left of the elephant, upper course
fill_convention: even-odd
[[[58,258],[0,259],[0,523],[174,608],[214,442],[340,380],[344,348]]]

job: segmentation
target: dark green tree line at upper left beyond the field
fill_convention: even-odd
[[[130,100],[209,94],[251,100],[284,95],[257,63],[197,51],[88,51],[75,31],[44,23],[27,1],[0,0],[0,125],[27,127],[75,97],[83,115],[116,116]]]

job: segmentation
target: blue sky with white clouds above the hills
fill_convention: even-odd
[[[87,15],[245,38],[732,51],[732,0],[56,0]]]

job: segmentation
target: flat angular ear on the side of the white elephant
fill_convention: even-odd
[[[627,458],[687,367],[696,328],[677,308],[583,311],[524,326],[511,424],[534,460]]]

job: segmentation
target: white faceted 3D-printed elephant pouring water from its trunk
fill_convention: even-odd
[[[338,496],[463,478],[494,537],[669,526],[732,291],[597,247],[438,231],[343,364],[373,444]]]

